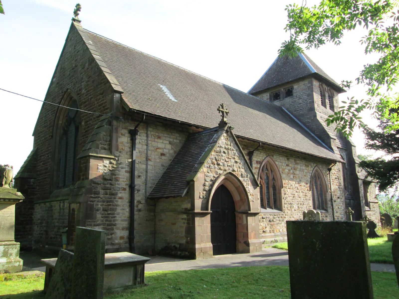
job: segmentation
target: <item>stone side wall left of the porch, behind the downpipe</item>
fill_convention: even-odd
[[[124,117],[128,119],[127,116]],[[132,140],[129,130],[133,129],[138,120],[118,122],[119,150],[114,152],[117,157],[115,169],[103,171],[104,177],[110,184],[115,184],[111,189],[117,192],[116,201],[103,201],[102,191],[98,197],[93,198],[97,219],[87,222],[91,227],[107,230],[107,248],[111,250],[128,250],[128,228],[130,222],[130,169],[132,163]],[[148,161],[147,152],[147,125],[148,125]],[[135,194],[135,247],[136,253],[146,253],[154,248],[154,232],[156,230],[156,249],[167,250],[168,247],[180,244],[177,231],[184,231],[185,216],[179,214],[186,207],[181,201],[159,201],[156,206],[156,226],[154,227],[154,202],[146,202],[148,195],[155,186],[166,167],[170,164],[180,147],[186,140],[190,129],[183,126],[174,126],[156,122],[146,118],[138,126],[136,141],[136,194]],[[146,182],[146,163],[148,174]],[[102,182],[103,182],[102,181]],[[103,183],[101,183],[103,184]],[[99,185],[101,189],[102,185]],[[110,187],[108,187],[110,188]],[[182,203],[170,205],[170,203]],[[169,216],[164,216],[167,212]],[[175,216],[172,216],[174,213]],[[174,217],[176,218],[174,221]],[[183,221],[180,223],[180,221]],[[176,223],[176,224],[174,224]],[[171,233],[172,232],[172,233]],[[168,235],[166,235],[168,233]],[[176,237],[175,237],[176,236]],[[173,241],[174,240],[174,241]],[[159,242],[159,244],[158,244]]]

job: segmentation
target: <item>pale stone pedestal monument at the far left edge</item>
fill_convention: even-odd
[[[22,271],[20,243],[14,240],[15,204],[24,199],[12,188],[13,171],[10,165],[0,165],[0,271]]]

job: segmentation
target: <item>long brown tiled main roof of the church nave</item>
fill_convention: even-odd
[[[275,104],[81,27],[78,30],[113,86],[123,90],[122,99],[132,110],[213,128],[220,119],[217,107],[224,103],[237,137],[340,159]]]

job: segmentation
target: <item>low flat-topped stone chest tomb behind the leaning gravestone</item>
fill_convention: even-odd
[[[150,258],[129,252],[115,252],[105,254],[104,262],[104,290],[144,284],[144,264]],[[54,273],[57,258],[41,260],[46,266],[44,277],[45,293]]]

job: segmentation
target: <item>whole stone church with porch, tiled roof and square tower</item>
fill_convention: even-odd
[[[84,226],[107,232],[107,252],[202,259],[283,242],[308,209],[378,223],[355,145],[326,126],[342,92],[305,54],[242,92],[75,17],[15,177],[15,239],[73,250]]]

